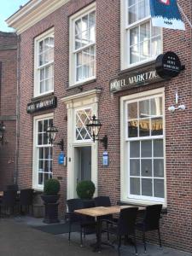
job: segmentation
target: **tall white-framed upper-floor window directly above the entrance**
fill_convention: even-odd
[[[95,4],[73,15],[70,25],[70,85],[74,85],[96,78]]]

